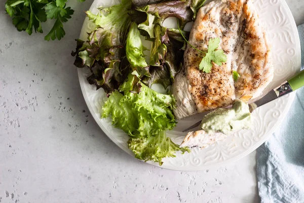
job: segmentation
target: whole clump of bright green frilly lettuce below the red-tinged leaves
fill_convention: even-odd
[[[138,74],[136,74],[138,76]],[[111,117],[112,124],[129,134],[129,148],[136,158],[153,160],[162,164],[162,158],[174,157],[179,148],[166,130],[176,124],[172,109],[175,106],[173,95],[160,94],[142,84],[138,77],[129,75],[127,81],[115,90],[102,107],[102,118]],[[134,93],[138,85],[139,93]]]

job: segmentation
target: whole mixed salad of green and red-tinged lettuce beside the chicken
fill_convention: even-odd
[[[161,94],[151,85],[167,88],[182,66],[186,23],[194,21],[205,0],[122,0],[119,5],[86,14],[96,28],[86,42],[77,40],[74,64],[89,67],[88,82],[103,88],[108,99],[101,107],[102,118],[129,135],[128,147],[135,157],[161,165],[164,157],[175,157],[180,148],[166,136],[176,125],[172,110],[175,99]],[[179,29],[168,29],[168,17],[178,20]],[[151,42],[145,57],[141,38]],[[146,59],[148,58],[148,59]]]

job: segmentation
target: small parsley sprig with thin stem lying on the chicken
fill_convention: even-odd
[[[222,65],[222,62],[226,62],[227,57],[224,54],[224,51],[222,49],[218,49],[219,47],[219,38],[212,38],[209,40],[208,42],[208,51],[203,52],[201,50],[199,50],[198,48],[194,47],[191,43],[189,43],[186,38],[184,37],[182,31],[179,28],[179,23],[177,21],[177,26],[178,26],[178,30],[180,32],[180,35],[183,37],[183,39],[188,43],[188,45],[190,45],[192,48],[194,48],[195,50],[203,53],[205,56],[202,58],[202,61],[200,62],[199,65],[199,69],[203,70],[203,72],[205,73],[210,73],[211,72],[211,68],[213,66],[212,62],[218,64],[218,65]]]

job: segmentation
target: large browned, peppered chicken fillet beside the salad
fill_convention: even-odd
[[[216,0],[202,7],[189,43],[206,51],[210,38],[220,39],[227,61],[204,73],[199,70],[204,55],[187,45],[172,87],[177,119],[254,99],[273,79],[270,46],[252,0]],[[233,71],[240,74],[236,82]]]

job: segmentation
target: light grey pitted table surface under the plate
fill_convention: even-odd
[[[142,163],[105,136],[88,112],[70,56],[92,1],[69,2],[75,13],[59,42],[18,32],[4,3],[0,202],[259,201],[255,152],[217,169],[178,172]],[[304,1],[287,3],[296,23],[304,23]]]

